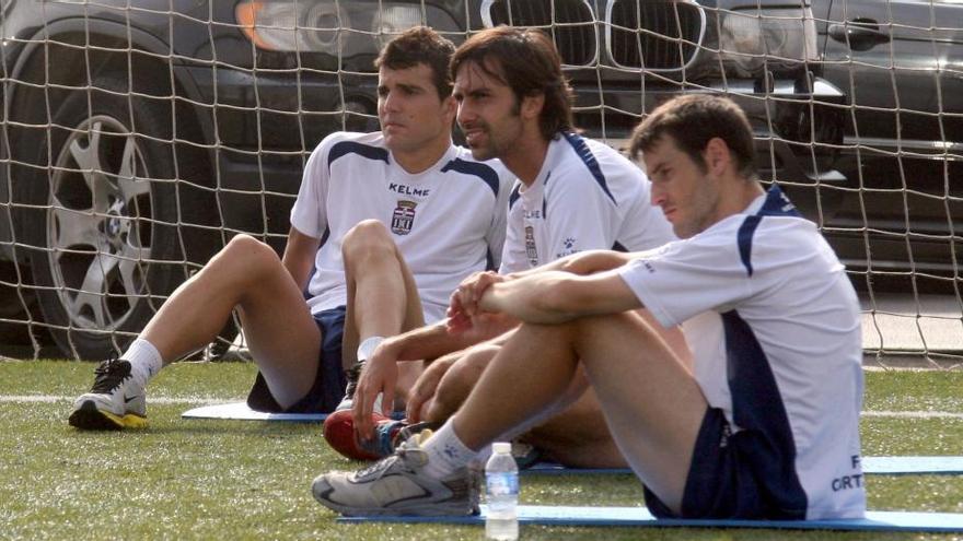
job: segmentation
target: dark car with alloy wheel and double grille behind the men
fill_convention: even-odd
[[[724,92],[753,119],[766,178],[813,205],[814,187],[843,181],[829,167],[844,96],[819,77],[799,1],[2,5],[0,254],[22,277],[2,302],[25,309],[34,295],[34,327],[73,356],[123,345],[232,235],[280,249],[306,156],[334,130],[376,127],[372,60],[418,23],[456,43],[497,24],[543,28],[577,122],[615,145],[671,96]]]

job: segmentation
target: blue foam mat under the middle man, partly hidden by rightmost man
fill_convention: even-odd
[[[863,457],[862,472],[882,475],[960,475],[963,457]],[[529,475],[618,475],[631,474],[628,468],[566,468],[554,462],[538,462],[522,470]]]

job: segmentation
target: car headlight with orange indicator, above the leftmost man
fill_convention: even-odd
[[[385,38],[430,24],[456,31],[451,16],[421,2],[384,0],[245,0],[234,9],[241,31],[259,49],[350,56]],[[376,42],[376,43],[372,43]]]

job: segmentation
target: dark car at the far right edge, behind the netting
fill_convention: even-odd
[[[952,292],[963,263],[963,3],[813,0],[848,179],[813,217],[856,271]],[[936,277],[919,280],[921,277]],[[908,287],[904,280],[903,286]]]

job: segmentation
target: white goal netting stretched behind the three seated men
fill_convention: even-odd
[[[314,145],[376,129],[380,45],[507,23],[553,36],[578,125],[614,145],[680,92],[736,98],[764,179],[847,263],[868,354],[959,365],[963,4],[705,4],[2,2],[0,342],[101,357],[234,234],[280,250]]]

